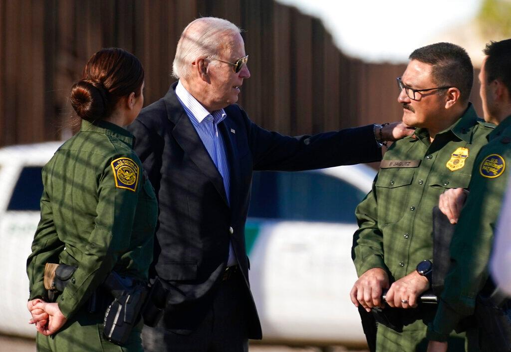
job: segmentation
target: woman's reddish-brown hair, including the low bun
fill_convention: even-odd
[[[126,50],[102,49],[92,55],[83,78],[71,88],[71,105],[85,120],[101,120],[112,113],[122,97],[141,94],[142,63]]]

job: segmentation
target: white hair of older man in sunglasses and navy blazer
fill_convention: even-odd
[[[239,33],[241,29],[238,26],[223,18],[202,17],[192,21],[177,43],[172,75],[177,79],[188,78],[192,74],[192,62],[201,56],[217,56],[219,48],[225,46],[223,37]],[[218,63],[211,61],[210,64]]]

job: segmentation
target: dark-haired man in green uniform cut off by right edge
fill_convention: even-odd
[[[511,39],[489,43],[484,54],[479,94],[484,119],[497,127],[479,151],[470,192],[454,229],[451,267],[436,316],[428,327],[430,352],[446,351],[447,336],[463,318],[475,312],[478,294],[493,290],[488,265],[511,161]],[[484,326],[478,327],[482,332]],[[494,350],[482,342],[479,347],[482,351]]]

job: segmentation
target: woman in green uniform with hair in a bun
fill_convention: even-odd
[[[142,319],[123,346],[103,336],[112,297],[102,290],[114,271],[145,284],[153,253],[157,204],[132,150],[130,124],[144,103],[144,70],[132,54],[103,49],[71,90],[80,131],[44,166],[41,220],[27,261],[29,310],[38,351],[142,351]],[[77,267],[49,302],[46,263]],[[129,284],[129,283],[128,283]]]

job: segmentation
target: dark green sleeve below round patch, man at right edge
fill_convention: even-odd
[[[438,303],[428,339],[446,341],[458,322],[472,315],[476,296],[488,277],[494,229],[505,192],[507,175],[486,178],[476,162],[470,193],[460,214],[450,245],[451,267]]]

